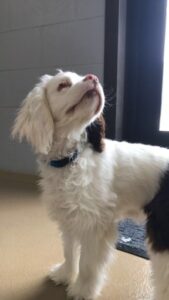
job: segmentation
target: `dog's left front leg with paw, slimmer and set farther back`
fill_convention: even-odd
[[[56,284],[70,284],[77,277],[79,271],[80,248],[75,238],[67,233],[62,233],[64,257],[63,263],[54,265],[49,277]]]

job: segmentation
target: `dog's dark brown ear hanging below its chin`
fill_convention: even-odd
[[[87,137],[88,142],[92,145],[95,151],[103,152],[105,146],[105,120],[103,115],[87,127]]]

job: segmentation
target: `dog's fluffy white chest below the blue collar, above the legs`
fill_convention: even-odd
[[[103,177],[103,171],[85,158],[69,168],[45,171],[42,182],[51,217],[78,226],[84,220],[91,225],[112,218],[110,178],[108,173]]]

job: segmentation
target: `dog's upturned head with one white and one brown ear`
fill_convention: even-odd
[[[48,154],[57,132],[69,136],[83,132],[96,121],[87,131],[89,142],[100,152],[103,107],[104,93],[95,75],[62,71],[55,76],[44,75],[23,101],[12,135],[20,140],[25,137],[37,153]]]

